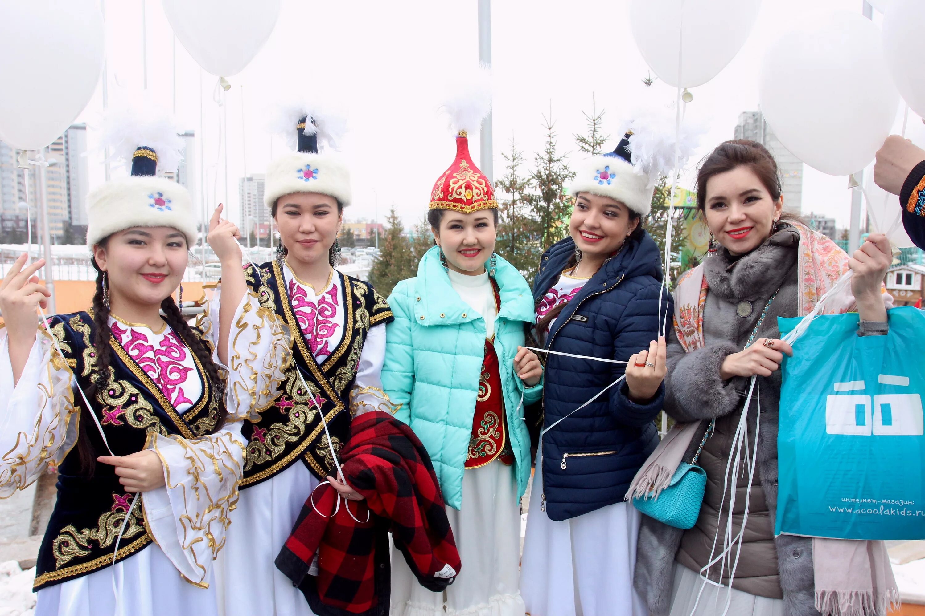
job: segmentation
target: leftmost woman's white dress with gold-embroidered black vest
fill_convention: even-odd
[[[257,307],[256,297],[247,296],[237,310],[236,320],[252,332],[274,326]],[[81,417],[76,389],[86,393],[95,373],[93,318],[79,312],[49,323],[50,333],[39,328],[15,385],[6,330],[0,332],[0,497],[49,467],[59,473],[39,553],[35,614],[217,614],[212,562],[225,544],[244,458],[235,388],[228,388],[228,417],[219,426],[223,401],[177,332],[166,323],[154,332],[110,318],[112,378],[105,392],[88,398],[113,453],[151,449],[161,458],[166,485],[136,502],[111,466],[97,463],[92,476],[84,472],[75,447],[83,420],[93,455],[108,454],[92,417],[86,410]],[[194,333],[215,342],[208,328]],[[241,355],[268,350],[255,336],[235,344]],[[232,371],[231,384],[235,377]]]

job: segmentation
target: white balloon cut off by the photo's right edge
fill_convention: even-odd
[[[909,108],[925,116],[922,19],[925,19],[925,3],[921,0],[894,0],[889,12],[883,16],[883,54],[896,88],[909,103]]]

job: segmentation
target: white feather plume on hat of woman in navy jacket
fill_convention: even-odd
[[[671,177],[674,171],[675,143],[679,145],[677,168],[680,171],[690,159],[706,132],[694,122],[682,120],[676,129],[676,116],[671,108],[647,105],[631,115],[624,130],[632,130],[627,150],[633,158],[635,172],[648,175],[649,184],[655,184],[661,175]]]

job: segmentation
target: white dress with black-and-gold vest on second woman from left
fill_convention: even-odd
[[[287,362],[285,375],[266,383],[244,428],[245,478],[228,544],[216,563],[219,601],[227,616],[310,615],[302,591],[274,565],[302,506],[332,467],[325,429],[296,366],[339,452],[350,437],[352,415],[393,412],[379,380],[391,311],[372,286],[340,272],[332,270],[324,288],[315,290],[285,263],[271,261],[259,271],[258,278],[248,266],[248,284],[286,324],[288,357],[295,364]]]

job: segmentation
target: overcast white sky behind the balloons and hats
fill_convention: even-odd
[[[106,2],[109,102],[145,96],[166,107],[174,102],[172,30],[159,0],[147,0],[147,91],[142,90],[142,2]],[[562,151],[576,151],[573,133],[585,129],[583,110],[591,95],[614,126],[647,94],[648,67],[628,26],[628,0],[494,0],[492,64],[494,170],[503,173],[502,151],[516,140],[532,163],[543,145],[542,115],[549,114]],[[733,138],[738,115],[758,108],[758,66],[764,50],[783,31],[833,9],[860,12],[861,0],[765,0],[759,20],[741,52],[720,75],[692,89],[686,113],[709,132],[697,161],[724,139]],[[880,15],[875,14],[875,21]],[[434,2],[305,2],[283,0],[276,30],[250,66],[229,78],[226,107],[213,99],[217,78],[201,69],[177,42],[176,105],[181,127],[203,136],[206,202],[225,201],[238,220],[238,178],[263,172],[271,152],[286,148],[265,130],[265,113],[278,92],[302,84],[334,93],[345,103],[350,131],[341,151],[350,160],[353,205],[348,219],[383,220],[394,203],[406,225],[425,215],[430,189],[454,154],[437,104],[445,83],[478,60],[476,0]],[[202,82],[201,80],[202,79]],[[202,86],[200,85],[202,83]],[[845,84],[845,96],[863,84]],[[649,92],[665,103],[674,89],[656,82]],[[203,123],[200,123],[202,100]],[[243,105],[243,113],[242,113]],[[78,121],[99,126],[102,90]],[[228,117],[228,193],[220,122]],[[901,123],[897,115],[897,127]],[[908,137],[925,143],[925,127],[910,115]],[[88,131],[90,146],[95,136]],[[244,143],[246,142],[246,149]],[[613,144],[611,144],[612,147]],[[478,138],[470,138],[477,161]],[[198,152],[196,153],[198,158]],[[104,180],[102,154],[91,154],[91,184]],[[116,173],[116,172],[114,172]],[[691,187],[692,175],[682,180]],[[803,211],[829,214],[848,223],[850,191],[845,177],[806,167]]]

